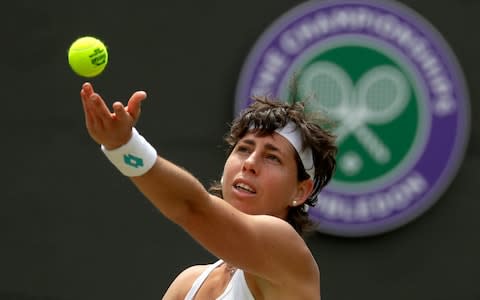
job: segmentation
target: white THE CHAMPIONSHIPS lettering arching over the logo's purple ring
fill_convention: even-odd
[[[455,112],[454,84],[430,42],[396,16],[364,7],[336,8],[328,14],[320,12],[284,32],[279,37],[279,48],[271,49],[265,55],[254,81],[255,94],[272,92],[280,71],[286,68],[285,55],[298,55],[316,40],[346,30],[352,33],[372,31],[379,38],[396,43],[424,74],[425,83],[433,93],[433,113],[446,116]]]

